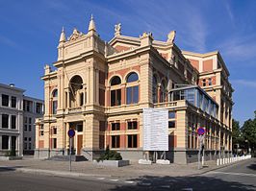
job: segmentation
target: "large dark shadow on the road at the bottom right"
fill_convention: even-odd
[[[256,186],[243,184],[236,181],[225,181],[212,177],[152,177],[144,176],[139,179],[129,179],[137,184],[118,185],[112,191],[117,190],[256,190]],[[192,189],[191,189],[192,188]]]

